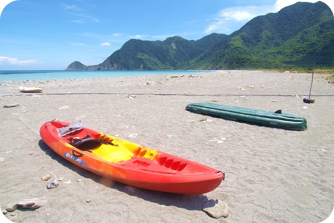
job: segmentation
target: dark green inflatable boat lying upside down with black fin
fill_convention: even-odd
[[[269,127],[292,130],[307,129],[305,118],[288,113],[282,113],[281,110],[273,112],[209,102],[188,104],[186,109],[200,114],[219,116],[234,121],[256,123]]]

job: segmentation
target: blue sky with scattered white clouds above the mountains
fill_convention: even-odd
[[[100,64],[132,38],[197,40],[213,32],[230,34],[256,16],[297,1],[0,0],[0,70]],[[323,0],[333,11],[332,1]]]

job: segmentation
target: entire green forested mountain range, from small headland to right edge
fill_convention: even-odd
[[[74,62],[67,69],[259,69],[313,63],[334,67],[334,17],[321,1],[297,2],[255,17],[230,35],[212,33],[196,41],[131,39],[102,64]]]

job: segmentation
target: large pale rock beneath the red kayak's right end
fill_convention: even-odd
[[[228,209],[228,205],[225,202],[219,199],[211,199],[204,205],[202,211],[212,218],[219,219],[228,216]]]

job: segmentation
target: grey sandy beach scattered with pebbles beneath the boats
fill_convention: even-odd
[[[35,210],[5,214],[22,223],[318,223],[334,207],[334,85],[314,74],[225,71],[171,77],[0,82],[0,207],[45,198]],[[20,86],[42,88],[22,93]],[[127,97],[128,95],[136,97]],[[298,95],[299,97],[292,97]],[[185,110],[201,101],[303,116],[305,131],[207,117]],[[18,104],[4,108],[4,105]],[[68,107],[64,107],[68,106]],[[61,109],[60,109],[61,108]],[[48,121],[75,123],[225,172],[214,191],[149,191],[90,173],[61,158],[39,135]],[[137,133],[136,139],[130,134]],[[48,190],[41,177],[63,178]],[[70,181],[70,183],[69,183]],[[210,199],[227,218],[202,211]],[[90,202],[87,202],[90,201]]]

